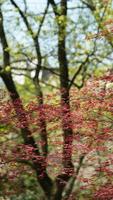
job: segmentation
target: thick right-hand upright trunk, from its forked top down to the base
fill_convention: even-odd
[[[62,130],[63,130],[63,173],[56,178],[57,191],[54,200],[61,200],[63,190],[74,173],[72,163],[72,141],[73,130],[70,116],[69,97],[69,70],[66,53],[66,27],[67,27],[67,0],[61,0],[60,12],[54,0],[49,1],[53,7],[58,25],[58,61],[60,70],[60,92],[62,109]]]

